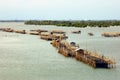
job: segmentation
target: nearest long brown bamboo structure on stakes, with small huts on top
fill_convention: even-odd
[[[75,57],[94,68],[113,68],[116,64],[115,59],[80,49],[78,45],[72,45],[66,41],[54,39],[52,45],[57,48],[58,53],[66,57]]]

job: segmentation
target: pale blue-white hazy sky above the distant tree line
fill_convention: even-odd
[[[120,20],[120,0],[0,0],[0,20]]]

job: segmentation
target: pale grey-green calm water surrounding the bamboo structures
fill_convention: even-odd
[[[0,31],[0,80],[120,80],[120,37],[105,38],[102,32],[120,31],[120,27],[74,28],[0,23],[0,28],[16,30],[64,30],[69,42],[76,42],[82,49],[115,58],[116,68],[94,69],[74,58],[58,54],[49,41],[39,36]],[[72,34],[81,30],[81,34]],[[93,32],[94,36],[87,33]]]

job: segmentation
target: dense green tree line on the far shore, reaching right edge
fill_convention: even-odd
[[[52,21],[52,20],[30,20],[26,21],[27,25],[56,25],[56,26],[67,26],[67,27],[110,27],[120,26],[119,20],[101,20],[101,21]]]

